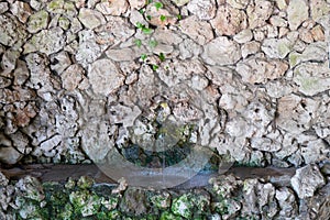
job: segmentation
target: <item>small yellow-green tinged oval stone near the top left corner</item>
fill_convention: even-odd
[[[28,22],[28,31],[30,33],[36,33],[43,29],[46,29],[48,25],[50,16],[45,10],[37,11],[32,14]]]

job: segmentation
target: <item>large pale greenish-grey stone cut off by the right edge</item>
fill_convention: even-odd
[[[329,63],[302,63],[294,70],[294,81],[307,96],[315,96],[330,89]]]

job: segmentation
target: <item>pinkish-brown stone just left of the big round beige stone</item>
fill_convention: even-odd
[[[69,66],[61,75],[63,88],[69,91],[75,90],[79,82],[85,78],[84,72],[84,68],[78,64]]]

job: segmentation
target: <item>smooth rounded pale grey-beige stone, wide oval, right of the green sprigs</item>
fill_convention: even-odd
[[[205,45],[202,58],[210,65],[231,65],[241,58],[238,43],[226,36],[219,36]]]

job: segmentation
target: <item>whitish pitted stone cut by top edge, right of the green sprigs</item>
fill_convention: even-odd
[[[213,19],[217,11],[215,0],[190,0],[187,8],[200,20]]]

